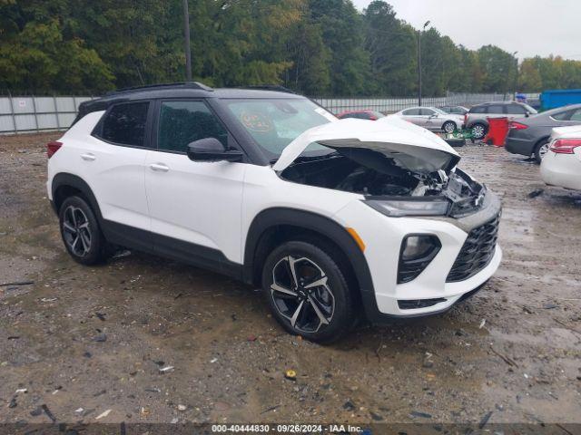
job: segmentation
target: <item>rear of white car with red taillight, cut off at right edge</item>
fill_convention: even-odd
[[[581,190],[581,126],[553,130],[541,162],[541,178],[549,186]]]

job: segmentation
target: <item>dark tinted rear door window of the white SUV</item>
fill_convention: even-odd
[[[103,119],[101,139],[143,147],[148,110],[149,102],[126,102],[113,106]]]

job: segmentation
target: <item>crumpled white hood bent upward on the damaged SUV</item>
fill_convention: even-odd
[[[313,127],[282,150],[272,169],[288,168],[312,142],[348,157],[350,150],[377,151],[403,169],[425,174],[448,171],[460,160],[458,152],[436,134],[397,116],[387,116],[378,121],[347,118]]]

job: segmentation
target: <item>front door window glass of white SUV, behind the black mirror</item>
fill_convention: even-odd
[[[186,152],[194,140],[216,138],[224,148],[228,133],[204,102],[162,102],[157,146],[159,150]]]

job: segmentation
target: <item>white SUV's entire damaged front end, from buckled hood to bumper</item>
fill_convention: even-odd
[[[500,201],[458,169],[459,160],[437,135],[386,117],[305,131],[272,169],[286,181],[359,199],[333,218],[365,244],[374,290],[361,294],[377,320],[446,311],[497,270]]]

